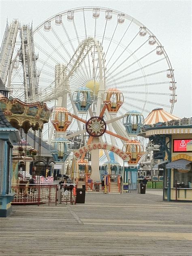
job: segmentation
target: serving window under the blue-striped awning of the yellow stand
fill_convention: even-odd
[[[177,182],[178,188],[192,188],[192,171],[174,169],[173,187]]]

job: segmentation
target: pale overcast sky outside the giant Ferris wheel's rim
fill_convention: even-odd
[[[178,100],[173,113],[192,115],[191,90],[191,1],[32,1],[0,0],[0,42],[6,19],[33,21],[34,28],[45,19],[78,6],[103,6],[131,15],[151,30],[166,49],[177,81]]]

